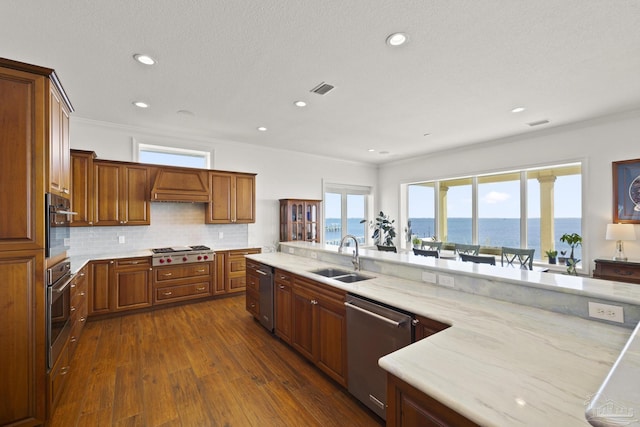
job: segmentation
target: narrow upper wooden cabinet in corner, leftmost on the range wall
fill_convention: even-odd
[[[71,225],[86,227],[93,225],[93,151],[71,150]]]

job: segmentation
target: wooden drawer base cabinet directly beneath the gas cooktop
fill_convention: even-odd
[[[164,304],[212,295],[214,261],[154,268],[153,302]]]

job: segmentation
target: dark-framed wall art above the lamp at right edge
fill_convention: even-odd
[[[613,162],[613,222],[640,224],[640,159]]]

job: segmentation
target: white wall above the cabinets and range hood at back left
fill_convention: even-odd
[[[118,126],[72,116],[71,148],[95,151],[98,158],[132,161],[132,138],[149,144],[186,145],[214,150],[212,169],[257,173],[256,222],[248,226],[247,245],[273,246],[279,239],[278,199],[322,199],[322,181],[370,186],[377,167],[290,151],[186,134]],[[153,216],[151,223],[153,225]],[[179,220],[176,218],[176,220]],[[211,227],[211,226],[205,226]],[[177,244],[167,242],[167,244]],[[200,244],[200,242],[194,242]],[[224,242],[220,242],[223,246]]]

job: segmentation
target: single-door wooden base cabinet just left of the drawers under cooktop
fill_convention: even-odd
[[[151,257],[116,259],[112,266],[112,311],[150,307]]]

